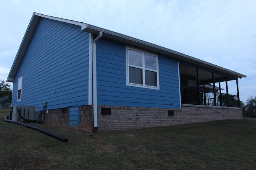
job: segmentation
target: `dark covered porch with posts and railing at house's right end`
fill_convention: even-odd
[[[182,104],[240,107],[238,76],[232,71],[228,74],[182,63],[179,69]],[[228,92],[230,81],[236,83],[236,94]]]

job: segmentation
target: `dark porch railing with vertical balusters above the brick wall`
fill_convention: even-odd
[[[182,88],[182,104],[215,106],[214,92],[204,92],[197,88]],[[238,97],[216,92],[216,106],[238,107]]]

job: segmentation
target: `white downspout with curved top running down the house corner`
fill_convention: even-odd
[[[98,116],[97,116],[97,64],[96,64],[96,43],[101,39],[102,31],[100,31],[98,37],[94,39],[92,46],[92,87],[93,87],[93,126],[94,131],[98,129]]]

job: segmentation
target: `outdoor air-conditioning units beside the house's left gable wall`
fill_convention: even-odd
[[[38,119],[38,116],[35,115],[35,107],[34,106],[12,106],[10,111],[10,118],[13,121],[21,121],[22,118],[28,120],[36,120]]]

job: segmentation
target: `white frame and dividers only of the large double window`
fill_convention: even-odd
[[[136,66],[129,64],[129,56],[128,56],[129,49],[142,53],[142,84],[135,84],[135,83],[130,83],[129,82],[129,66],[132,66],[132,67],[136,68]],[[144,54],[145,53],[148,54],[148,55],[152,55],[152,56],[156,57],[156,70],[150,70],[148,68],[145,68],[145,59],[144,59]],[[156,72],[156,85],[157,86],[148,86],[148,85],[145,84],[146,83],[146,81],[145,81],[145,70]],[[137,49],[137,48],[134,48],[134,47],[126,46],[126,86],[134,86],[134,87],[140,87],[140,88],[150,88],[150,89],[159,90],[160,88],[159,88],[158,55],[154,54],[154,53],[150,53],[148,51]]]

